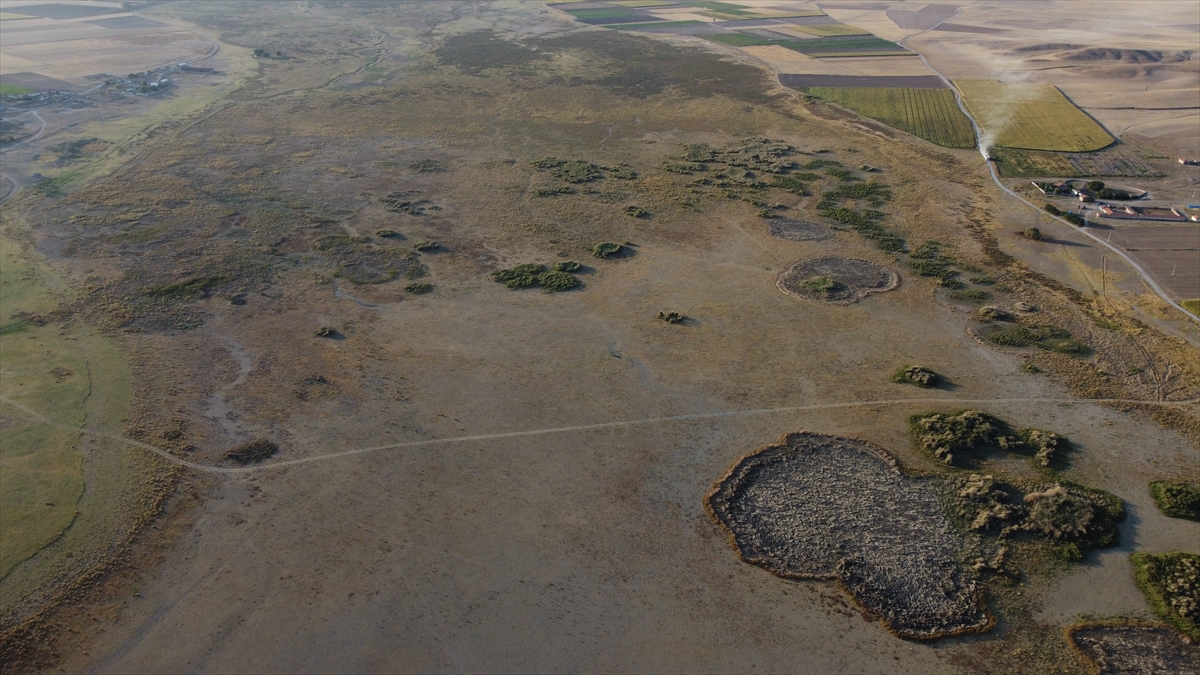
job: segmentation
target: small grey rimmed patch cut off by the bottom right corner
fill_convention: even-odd
[[[1085,623],[1068,628],[1067,640],[1100,675],[1200,674],[1200,649],[1165,626]]]

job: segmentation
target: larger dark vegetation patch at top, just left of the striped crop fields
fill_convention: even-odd
[[[584,52],[583,60],[602,74],[572,83],[599,85],[625,96],[653,96],[673,89],[686,96],[728,96],[751,103],[774,98],[768,94],[766,73],[703,49],[672,47],[614,31],[576,32],[533,44],[547,52]]]

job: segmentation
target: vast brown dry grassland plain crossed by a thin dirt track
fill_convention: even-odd
[[[289,56],[258,61],[210,114],[146,139],[118,172],[47,181],[6,211],[78,288],[71,319],[130,350],[124,434],[190,461],[226,466],[253,438],[289,460],[883,400],[896,398],[888,374],[904,363],[980,399],[1200,387],[1195,354],[1146,327],[1100,328],[1088,298],[998,253],[980,166],[815,118],[758,68],[576,30],[529,4],[158,11]],[[854,204],[863,163],[883,167],[871,180],[890,186],[890,202]],[[782,219],[758,215],[816,222],[835,190],[914,249],[941,241],[996,282],[997,304],[1037,305],[1093,357],[982,345],[971,315],[905,268],[898,288],[853,305],[780,293],[775,277],[798,259],[896,268],[854,231],[784,240],[769,222]],[[631,205],[649,217],[630,217]],[[878,240],[876,229],[862,231]],[[439,246],[413,253],[421,241]],[[601,241],[628,243],[626,255],[593,257]],[[586,261],[570,292],[490,279],[568,259]],[[432,291],[355,271],[389,261],[419,269]],[[664,310],[692,322],[656,319]],[[1022,426],[1069,434],[1084,448],[1070,476],[1118,496],[1144,490],[1150,471],[1105,452],[1123,438],[1138,437],[1147,462],[1196,456],[1150,412],[1001,406]],[[804,420],[925,466],[904,420],[928,407]],[[1164,424],[1186,431],[1189,414]],[[43,634],[38,653],[47,663],[61,647],[61,667],[101,671],[935,673],[953,670],[954,655],[1044,638],[910,645],[847,609],[841,591],[740,565],[704,516],[704,490],[798,417],[476,440],[214,479],[194,526],[119,616],[77,637]],[[1048,585],[1031,574],[1027,590]],[[1021,665],[1081,663],[1062,640],[1045,650]]]

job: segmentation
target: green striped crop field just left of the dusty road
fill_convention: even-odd
[[[946,148],[974,148],[971,121],[949,89],[812,86],[809,94]]]

